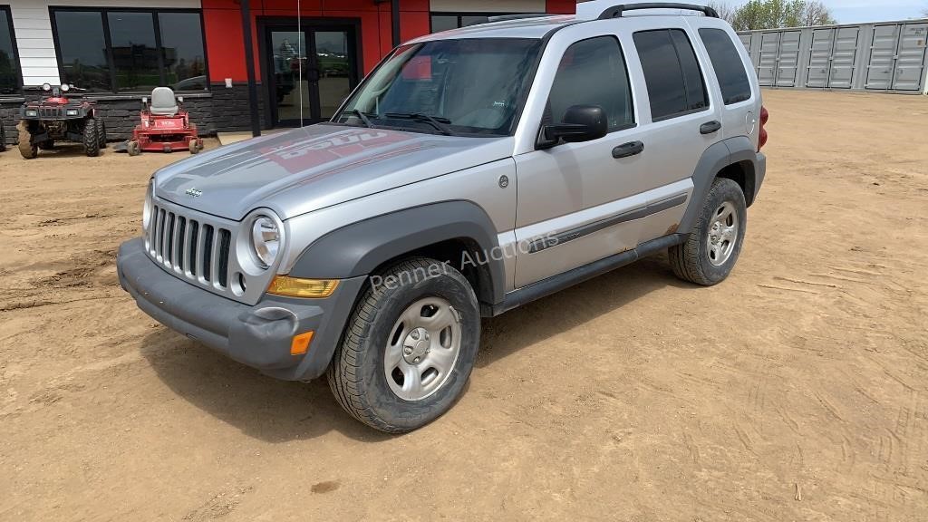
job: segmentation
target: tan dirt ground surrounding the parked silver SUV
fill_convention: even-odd
[[[148,175],[185,154],[7,150],[0,519],[928,519],[928,98],[766,99],[728,281],[657,256],[485,320],[464,398],[404,437],[122,292]]]

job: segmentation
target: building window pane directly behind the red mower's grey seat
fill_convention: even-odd
[[[177,91],[205,89],[206,53],[197,13],[159,13],[164,83]]]

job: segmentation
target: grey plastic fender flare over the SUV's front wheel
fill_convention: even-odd
[[[492,284],[485,293],[474,291],[478,297],[484,294],[481,300],[489,305],[501,303],[506,294],[504,261],[487,255],[499,248],[496,227],[483,208],[467,201],[425,204],[332,230],[303,250],[290,275],[338,280],[367,276],[393,258],[450,240],[476,243],[482,251],[477,262],[487,269]]]

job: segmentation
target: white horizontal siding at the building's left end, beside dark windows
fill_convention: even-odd
[[[61,83],[48,7],[200,8],[200,0],[7,0],[19,49],[23,85]],[[6,2],[5,2],[6,3]]]

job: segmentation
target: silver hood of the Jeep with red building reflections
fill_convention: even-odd
[[[155,195],[240,220],[302,215],[512,155],[511,137],[445,137],[319,124],[200,153],[155,174]]]

